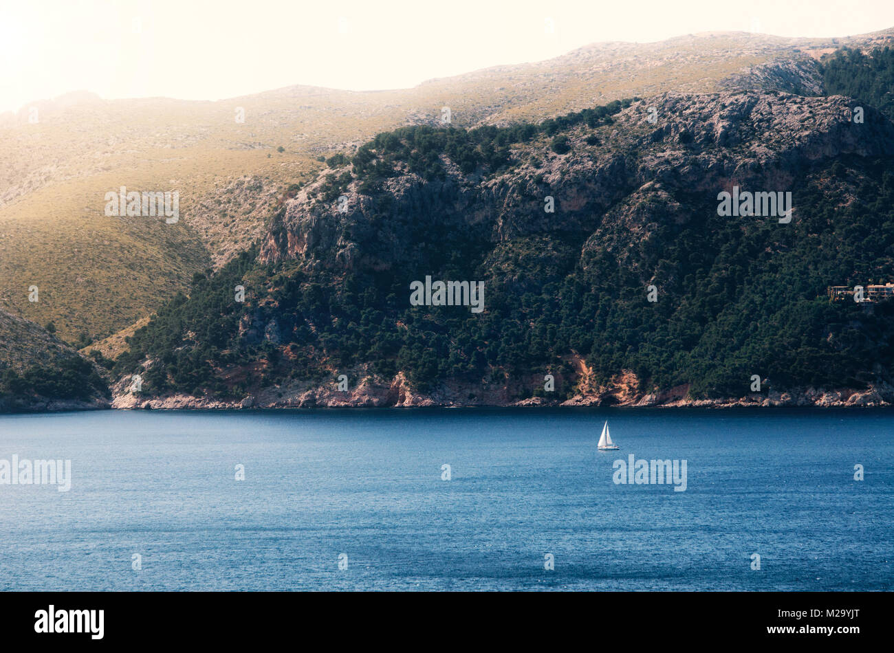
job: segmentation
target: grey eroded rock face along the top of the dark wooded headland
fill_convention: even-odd
[[[653,107],[654,124],[646,120]],[[733,186],[790,188],[805,169],[841,155],[894,154],[894,125],[870,107],[857,124],[854,107],[842,96],[776,91],[666,93],[629,106],[613,124],[595,130],[598,145],[586,143],[594,130],[576,128],[569,131],[569,154],[556,155],[546,143],[521,146],[515,153],[521,163],[492,178],[464,175],[452,165],[443,180],[399,174],[384,186],[391,197],[384,209],[359,192],[358,181],[344,191],[344,213],[335,202],[309,199],[321,178],[274,221],[259,258],[299,259],[311,269],[387,270],[411,254],[404,230],[434,219],[454,230],[481,230],[493,244],[549,233],[598,238],[599,230],[610,229],[606,213],[619,204],[627,207],[613,209],[621,222],[642,223],[649,211],[656,220],[685,221],[669,192],[715,197]],[[544,213],[547,196],[560,205],[555,213]],[[375,252],[365,247],[373,236]]]

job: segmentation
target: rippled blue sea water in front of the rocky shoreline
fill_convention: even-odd
[[[864,410],[0,416],[0,458],[72,460],[68,492],[0,485],[0,589],[891,590],[892,432]],[[686,459],[687,490],[615,484],[631,453]]]

